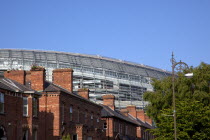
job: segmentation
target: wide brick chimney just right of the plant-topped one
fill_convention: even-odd
[[[53,70],[53,83],[73,92],[73,70],[70,68]]]

